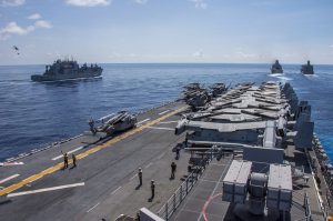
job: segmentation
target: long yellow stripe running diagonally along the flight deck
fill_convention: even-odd
[[[94,148],[91,148],[91,149],[89,149],[89,150],[87,150],[87,151],[78,154],[77,159],[80,160],[80,159],[83,159],[83,158],[85,158],[85,157],[88,157],[88,155],[90,155],[92,153],[95,153],[95,152],[98,152],[100,150],[103,150],[103,149],[105,149],[105,148],[108,148],[108,147],[110,147],[110,145],[112,145],[112,144],[114,144],[114,143],[117,143],[117,142],[119,142],[119,141],[121,141],[121,140],[123,140],[123,139],[125,139],[125,138],[128,138],[130,135],[132,135],[132,134],[134,134],[134,133],[138,133],[138,132],[140,132],[140,131],[142,131],[142,130],[144,130],[144,129],[147,129],[147,128],[149,128],[151,125],[153,125],[153,124],[157,124],[157,123],[165,120],[167,118],[169,118],[171,115],[174,115],[174,114],[176,114],[176,113],[179,113],[179,112],[181,112],[183,110],[185,110],[185,108],[181,108],[179,110],[172,111],[172,112],[170,112],[170,113],[168,113],[168,114],[165,114],[165,115],[163,115],[161,118],[158,118],[158,119],[155,119],[155,120],[153,120],[151,122],[145,123],[144,125],[141,125],[139,128],[135,128],[133,130],[124,132],[124,133],[122,133],[120,135],[117,135],[113,139],[107,141],[105,143],[102,143],[100,145],[97,145]],[[69,163],[71,163],[71,160],[69,160]],[[31,175],[31,177],[29,177],[29,178],[27,178],[27,179],[24,179],[24,180],[22,180],[22,181],[20,181],[18,183],[14,183],[14,184],[12,184],[12,185],[10,185],[8,188],[4,188],[4,189],[0,190],[0,197],[4,195],[4,194],[8,194],[8,193],[10,193],[12,191],[16,191],[16,190],[22,188],[23,185],[26,185],[28,183],[31,183],[31,182],[34,182],[34,181],[41,179],[42,177],[44,177],[47,174],[50,174],[50,173],[53,173],[53,172],[56,172],[56,171],[58,171],[58,170],[60,170],[62,168],[63,168],[63,163],[62,162],[57,163],[56,165],[53,165],[51,168],[48,168],[48,169],[46,169],[46,170],[43,170],[43,171],[41,171],[41,172],[39,172],[37,174],[33,174],[33,175]]]

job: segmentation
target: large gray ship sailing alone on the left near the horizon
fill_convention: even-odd
[[[32,81],[63,81],[101,77],[103,69],[97,64],[82,67],[74,60],[57,60],[52,66],[46,66],[43,74],[31,76]]]

